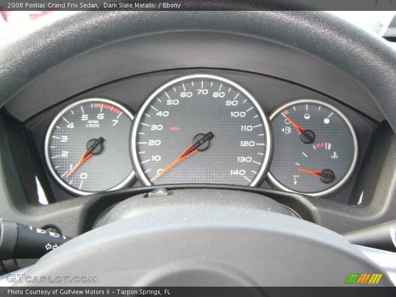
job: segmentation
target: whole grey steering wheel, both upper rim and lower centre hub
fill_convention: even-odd
[[[35,77],[80,53],[142,35],[191,30],[270,40],[334,64],[365,86],[396,131],[395,50],[324,12],[67,14],[0,49],[0,106]],[[158,198],[142,194],[152,190],[148,187],[134,198],[127,190],[77,198],[78,207],[70,204],[73,217],[58,218],[64,225],[128,199],[107,210],[95,229],[42,257],[26,275],[95,275],[96,286],[276,286],[285,279],[290,286],[340,286],[349,273],[381,273],[342,236],[246,188],[219,188],[174,187],[171,195]],[[33,207],[30,223],[45,221],[54,209]],[[391,285],[386,275],[382,284]]]

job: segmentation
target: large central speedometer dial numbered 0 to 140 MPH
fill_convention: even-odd
[[[173,80],[136,116],[133,162],[146,185],[256,185],[271,152],[269,121],[241,86],[212,75]]]

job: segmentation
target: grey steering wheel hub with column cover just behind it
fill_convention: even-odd
[[[96,276],[103,286],[341,286],[353,271],[380,272],[341,235],[268,209],[276,204],[210,189],[129,198],[104,215],[119,219],[101,218],[27,275]]]

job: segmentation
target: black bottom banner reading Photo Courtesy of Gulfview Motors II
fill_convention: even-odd
[[[395,297],[390,287],[12,287],[0,296],[21,297]]]

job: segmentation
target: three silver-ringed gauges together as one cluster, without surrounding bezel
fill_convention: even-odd
[[[78,99],[51,119],[45,164],[73,195],[122,189],[135,178],[143,185],[266,180],[321,197],[342,188],[359,154],[344,112],[315,97],[267,110],[259,97],[235,79],[193,73],[162,83],[136,114],[117,99]]]

